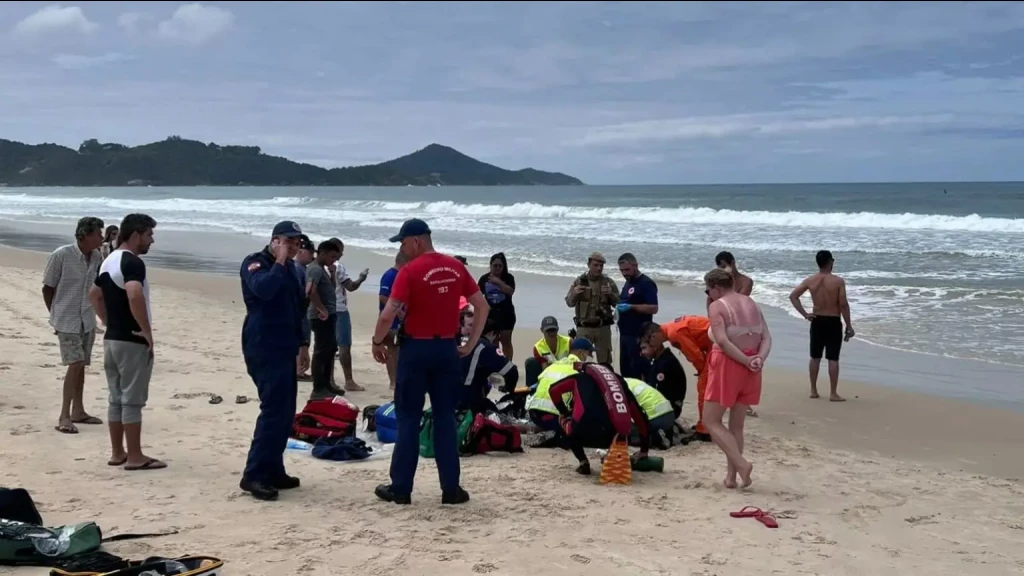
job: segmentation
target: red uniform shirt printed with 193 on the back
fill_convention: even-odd
[[[459,333],[459,298],[480,291],[459,260],[430,252],[401,266],[391,297],[406,304],[404,331],[411,338],[454,338]]]

